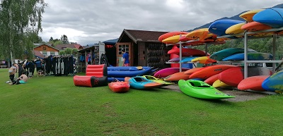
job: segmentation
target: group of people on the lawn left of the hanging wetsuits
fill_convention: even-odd
[[[44,62],[42,59],[38,58],[37,60],[28,60],[23,61],[21,63],[13,63],[11,68],[8,69],[9,78],[10,78],[10,85],[18,85],[24,84],[28,82],[28,78],[33,77],[33,73],[37,70],[37,77],[42,76],[44,71]],[[18,73],[18,78],[15,80],[15,74]]]

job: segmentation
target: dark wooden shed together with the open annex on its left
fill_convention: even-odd
[[[129,53],[130,66],[152,66],[156,68],[168,68],[170,59],[167,52],[172,47],[166,47],[158,41],[158,37],[167,32],[146,31],[146,30],[123,30],[118,39],[110,39],[100,44],[87,46],[79,50],[79,56],[86,58],[87,54],[105,54],[111,66],[122,66],[122,52],[125,49]],[[104,46],[104,47],[102,47]],[[86,59],[80,60],[79,71],[85,71],[86,65],[96,64],[96,56],[90,56],[90,62]]]

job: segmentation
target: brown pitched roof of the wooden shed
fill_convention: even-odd
[[[124,35],[127,35],[135,43],[140,42],[159,42],[158,37],[167,32],[146,31],[146,30],[123,30],[117,42],[120,42]]]

